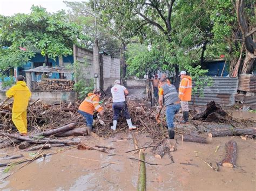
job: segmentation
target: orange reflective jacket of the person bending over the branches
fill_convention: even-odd
[[[98,112],[103,110],[103,107],[99,104],[99,97],[95,94],[89,93],[88,97],[79,105],[78,110],[84,111],[87,114],[93,115],[93,111]]]

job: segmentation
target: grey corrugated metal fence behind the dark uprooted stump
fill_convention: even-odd
[[[210,101],[215,101],[223,106],[235,104],[235,94],[237,94],[237,77],[212,77],[211,87],[204,88],[204,96],[192,95],[191,105],[206,105]],[[194,83],[193,85],[194,86]]]

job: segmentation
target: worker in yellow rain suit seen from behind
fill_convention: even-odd
[[[14,97],[14,105],[12,107],[12,122],[21,136],[28,133],[28,124],[26,121],[26,108],[28,108],[31,92],[24,82],[25,77],[19,75],[17,83],[6,91],[6,97]]]

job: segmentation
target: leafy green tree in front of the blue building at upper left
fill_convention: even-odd
[[[0,47],[5,47],[0,50],[1,69],[23,65],[34,51],[45,56],[46,64],[49,58],[71,55],[72,45],[84,36],[79,26],[66,18],[64,11],[49,13],[40,6],[32,6],[28,15],[0,16]]]

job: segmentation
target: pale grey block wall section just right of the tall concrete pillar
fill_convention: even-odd
[[[103,89],[114,85],[114,81],[120,79],[120,59],[102,54],[103,61]]]

